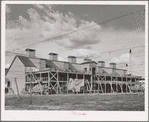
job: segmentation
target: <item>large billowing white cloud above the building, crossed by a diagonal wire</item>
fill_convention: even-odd
[[[40,12],[37,12],[38,10],[36,11],[35,9],[30,8],[27,11],[30,16],[30,21],[27,21],[20,15],[19,24],[16,24],[13,27],[13,29],[20,29],[20,32],[16,34],[15,39],[19,38],[21,40],[22,38],[22,40],[25,41],[24,35],[27,35],[26,32],[29,32],[29,35],[33,33],[35,35],[40,35],[40,39],[43,41],[53,41],[65,48],[72,49],[87,48],[100,42],[101,27],[99,25],[77,31],[79,29],[95,25],[95,22],[88,22],[85,20],[78,21],[72,12],[68,12],[68,14],[63,15],[59,11],[54,11],[53,7],[49,5],[44,6],[37,4],[35,5],[35,8],[44,12],[44,14],[40,14]],[[9,29],[11,29],[11,26],[9,26]],[[54,38],[72,31],[76,32],[59,38]],[[26,39],[28,39],[28,37],[29,36],[26,36]],[[51,38],[54,39],[51,40]],[[36,39],[37,38],[35,37],[33,40]],[[34,41],[30,41],[29,43],[31,42]]]

